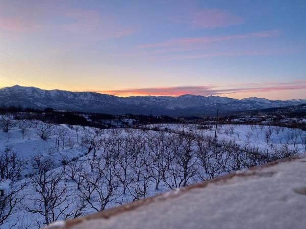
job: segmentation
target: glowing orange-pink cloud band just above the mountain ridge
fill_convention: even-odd
[[[296,83],[297,82],[297,83]],[[243,85],[248,85],[245,88]],[[306,81],[299,80],[293,82],[279,82],[278,85],[247,83],[228,85],[222,88],[214,85],[208,86],[180,86],[180,87],[156,87],[156,88],[139,88],[139,89],[122,89],[122,90],[109,90],[109,91],[94,91],[98,93],[106,93],[119,96],[132,96],[132,95],[152,95],[152,96],[180,96],[184,94],[193,95],[223,95],[223,94],[236,94],[236,93],[250,93],[250,92],[276,92],[286,90],[301,90],[306,89]],[[253,87],[252,87],[253,86]],[[92,91],[92,90],[91,90]]]

